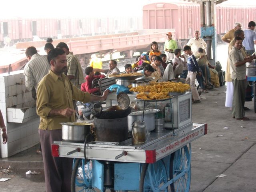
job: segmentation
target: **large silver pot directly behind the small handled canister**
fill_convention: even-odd
[[[155,129],[155,113],[159,112],[159,109],[145,109],[144,122],[148,131]],[[128,131],[132,131],[132,122],[135,120],[141,120],[143,117],[143,110],[131,112],[128,115]]]

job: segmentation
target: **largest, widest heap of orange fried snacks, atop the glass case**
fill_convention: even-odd
[[[182,82],[150,82],[147,86],[138,86],[130,89],[130,92],[179,92],[184,93],[190,89],[189,84],[183,84]]]

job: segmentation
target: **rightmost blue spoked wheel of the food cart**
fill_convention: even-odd
[[[171,154],[170,179],[174,182],[170,185],[172,192],[188,192],[191,180],[191,144],[184,146]]]

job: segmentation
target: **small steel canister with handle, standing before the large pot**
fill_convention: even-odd
[[[146,125],[141,120],[132,123],[132,144],[141,145],[146,142]]]

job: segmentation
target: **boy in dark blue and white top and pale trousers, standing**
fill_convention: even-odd
[[[196,62],[195,56],[191,52],[190,46],[188,45],[184,46],[183,51],[186,55],[188,55],[188,59],[187,59],[188,75],[185,83],[190,84],[190,90],[192,92],[194,103],[200,103],[201,99],[196,89],[196,74],[199,73],[199,65]]]

